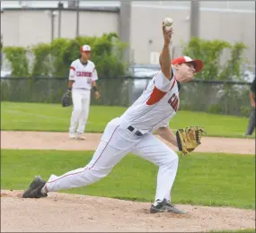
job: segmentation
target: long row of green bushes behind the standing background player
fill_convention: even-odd
[[[80,57],[80,47],[84,44],[92,47],[91,60],[101,78],[120,77],[125,74],[122,49],[127,45],[121,43],[115,33],[103,34],[98,38],[54,39],[51,43],[40,43],[27,48],[5,47],[4,53],[12,64],[12,76],[66,77],[70,64]],[[30,50],[34,56],[31,73],[25,50]]]

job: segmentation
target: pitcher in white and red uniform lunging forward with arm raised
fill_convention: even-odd
[[[108,123],[93,159],[84,168],[77,168],[59,177],[51,175],[47,182],[40,176],[35,177],[22,197],[40,198],[47,196],[49,192],[89,186],[106,177],[131,152],[159,167],[155,201],[150,212],[186,212],[171,203],[170,193],[178,169],[178,155],[153,133],[158,132],[164,140],[172,142],[184,154],[193,151],[200,144],[200,127],[187,127],[173,134],[169,121],[179,108],[181,83],[192,80],[194,74],[202,70],[203,63],[188,56],[171,61],[171,39],[172,28],[167,30],[163,23],[163,50],[159,59],[161,70],[137,101],[122,116]]]

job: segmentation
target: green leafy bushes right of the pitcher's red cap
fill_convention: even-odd
[[[188,43],[182,42],[181,45],[184,55],[201,59],[204,62],[203,71],[197,73],[198,79],[240,79],[241,66],[245,61],[243,52],[246,46],[243,43],[236,42],[232,45],[225,40],[192,38]],[[225,61],[223,61],[224,52],[230,53]]]

